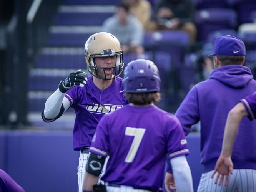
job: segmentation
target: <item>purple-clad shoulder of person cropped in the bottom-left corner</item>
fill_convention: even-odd
[[[0,169],[0,192],[25,192],[10,175]]]

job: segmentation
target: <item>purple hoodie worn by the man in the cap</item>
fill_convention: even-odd
[[[227,65],[214,70],[209,79],[196,84],[176,111],[185,134],[201,123],[201,164],[203,172],[214,170],[221,152],[228,112],[248,94],[256,91],[251,70]],[[234,143],[234,169],[256,169],[256,124],[244,118]],[[252,150],[253,149],[253,150]]]

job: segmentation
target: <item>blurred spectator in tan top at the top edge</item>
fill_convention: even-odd
[[[152,14],[152,7],[148,0],[123,0],[129,6],[130,13],[132,13],[145,30],[148,30],[148,23]]]

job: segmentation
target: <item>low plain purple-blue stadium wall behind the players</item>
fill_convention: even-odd
[[[199,134],[187,137],[194,191],[201,176]],[[69,131],[0,131],[0,168],[26,192],[76,192],[79,152]]]

